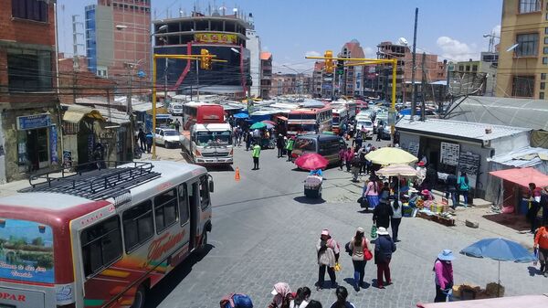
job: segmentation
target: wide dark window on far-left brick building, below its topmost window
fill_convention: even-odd
[[[51,52],[8,49],[7,79],[10,91],[51,90]]]

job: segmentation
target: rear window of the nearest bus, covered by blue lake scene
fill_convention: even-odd
[[[54,283],[51,227],[0,218],[0,278]]]

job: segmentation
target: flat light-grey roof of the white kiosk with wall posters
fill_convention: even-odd
[[[518,133],[529,132],[531,129],[511,127],[506,125],[491,125],[485,123],[451,121],[440,119],[427,119],[422,121],[411,121],[403,118],[395,124],[398,130],[416,133],[431,133],[444,135],[457,139],[473,139],[477,141],[489,141],[501,137],[511,136]],[[486,133],[486,129],[491,133]]]

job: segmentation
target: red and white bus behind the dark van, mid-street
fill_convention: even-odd
[[[288,115],[288,134],[331,132],[332,118],[331,106],[294,109]]]

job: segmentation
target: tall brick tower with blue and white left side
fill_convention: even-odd
[[[91,72],[118,80],[131,73],[150,77],[150,0],[98,0],[85,7],[84,25]]]

